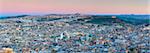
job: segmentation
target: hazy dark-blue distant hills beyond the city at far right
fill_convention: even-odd
[[[119,15],[117,18],[131,24],[150,24],[150,15]]]

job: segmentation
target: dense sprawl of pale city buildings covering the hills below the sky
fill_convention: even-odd
[[[1,18],[0,53],[149,53],[150,17],[140,24],[119,17],[77,13]]]

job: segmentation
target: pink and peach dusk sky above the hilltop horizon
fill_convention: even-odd
[[[0,0],[0,14],[150,14],[150,0]]]

